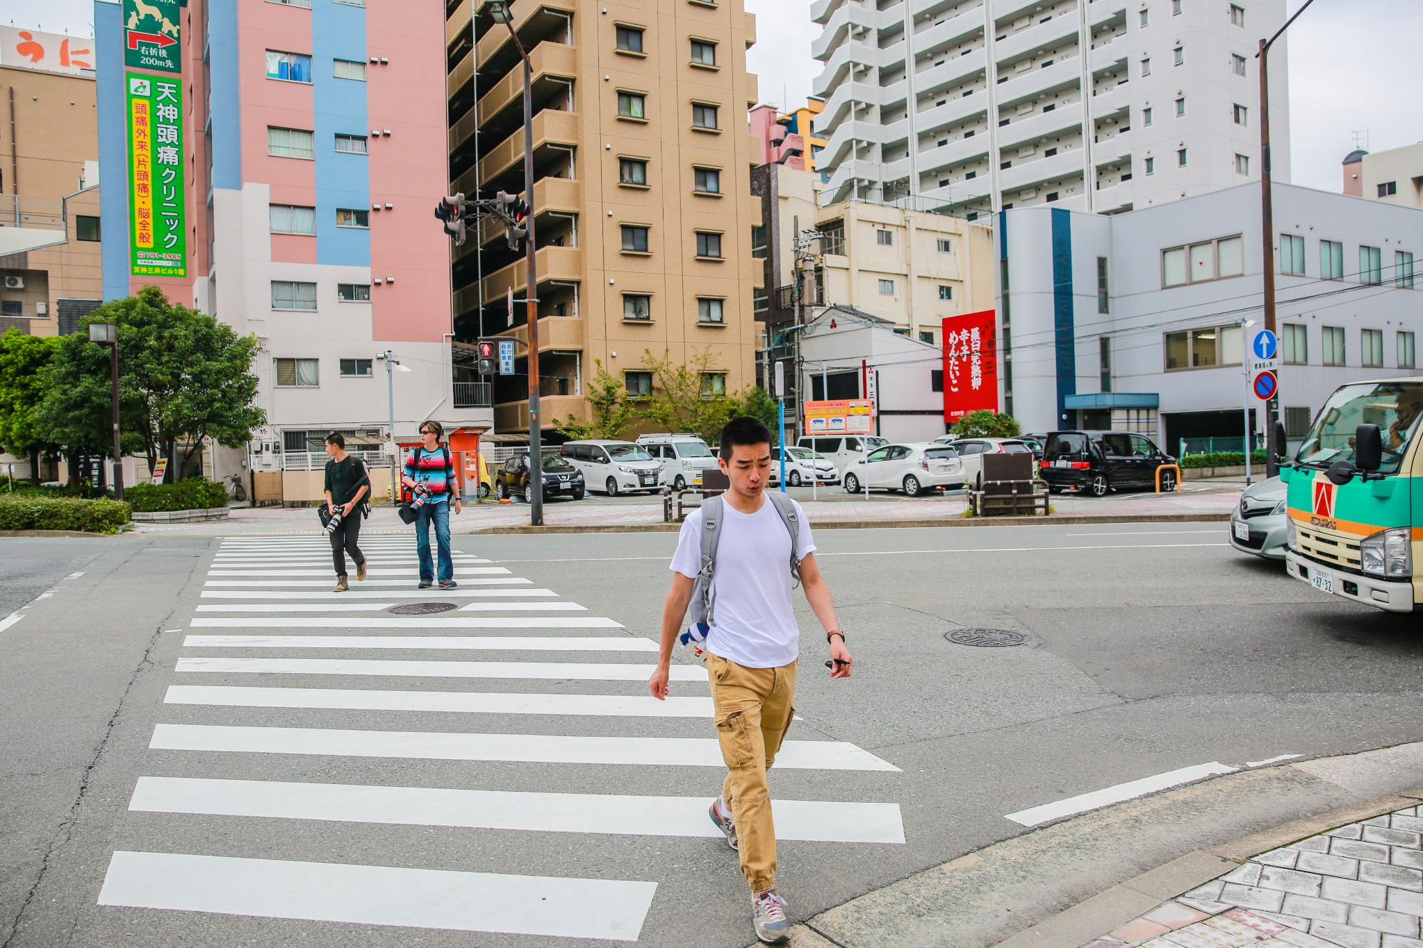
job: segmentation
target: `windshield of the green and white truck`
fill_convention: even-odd
[[[1352,463],[1355,429],[1359,425],[1377,425],[1383,433],[1383,463],[1379,472],[1397,473],[1420,416],[1423,416],[1423,384],[1345,385],[1325,402],[1309,428],[1309,436],[1295,453],[1295,463],[1318,469],[1339,460]]]

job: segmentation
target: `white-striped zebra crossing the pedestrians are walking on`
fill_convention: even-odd
[[[319,837],[282,829],[444,827],[647,847],[720,837],[707,795],[669,795],[653,779],[700,773],[709,792],[720,780],[702,667],[673,664],[683,694],[656,701],[646,691],[652,638],[488,559],[455,553],[460,587],[417,591],[408,537],[367,537],[361,547],[370,578],[330,593],[322,536],[221,543],[128,800],[135,829],[121,841],[139,844],[115,844],[98,904],[638,941],[667,881],[639,871],[656,868],[647,860],[623,864],[616,878],[579,877],[576,866],[529,871],[549,867],[515,844],[492,858],[498,871],[471,871],[374,843],[333,858]],[[400,614],[418,603],[443,611]],[[776,766],[896,773],[852,743],[794,738]],[[527,789],[551,767],[566,775],[556,792]],[[601,780],[608,772],[598,767],[619,776]],[[505,786],[480,786],[491,773]],[[589,782],[616,793],[586,792]],[[649,792],[638,793],[639,783]],[[774,817],[787,841],[905,841],[896,803],[777,799]],[[192,820],[240,831],[194,846]],[[280,847],[270,846],[273,827]]]

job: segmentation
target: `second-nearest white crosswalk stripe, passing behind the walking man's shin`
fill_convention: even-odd
[[[706,797],[512,793],[349,783],[138,777],[128,803],[144,813],[255,816],[531,833],[717,839]],[[904,843],[895,803],[773,800],[777,840]]]

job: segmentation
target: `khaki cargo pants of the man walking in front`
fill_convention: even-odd
[[[795,709],[795,662],[746,668],[707,652],[716,732],[726,760],[721,796],[736,822],[741,874],[753,893],[776,888],[776,824],[766,772]]]

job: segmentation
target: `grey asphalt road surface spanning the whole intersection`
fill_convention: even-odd
[[[1006,816],[1027,807],[1194,765],[1242,766],[1423,739],[1423,640],[1416,620],[1316,594],[1286,578],[1279,564],[1234,553],[1224,530],[1110,524],[820,532],[817,556],[857,674],[850,681],[825,678],[824,638],[803,607],[795,701],[801,721],[790,740],[825,743],[798,748],[798,762],[790,750],[783,755],[787,766],[773,772],[771,786],[780,800],[825,806],[783,822],[805,837],[780,847],[780,890],[791,915],[810,917],[1023,833],[1026,827]],[[704,807],[720,783],[716,766],[669,763],[692,746],[677,739],[712,738],[706,721],[645,716],[643,709],[632,716],[598,713],[598,698],[582,698],[646,694],[640,672],[622,681],[583,675],[652,661],[638,650],[656,637],[675,542],[673,534],[457,537],[457,549],[470,554],[461,570],[508,570],[464,573],[461,591],[528,580],[504,588],[522,587],[531,603],[539,601],[531,590],[546,588],[554,596],[542,597],[539,608],[561,603],[586,611],[514,614],[595,623],[514,623],[499,630],[353,627],[371,617],[394,618],[380,607],[411,601],[398,597],[339,603],[364,603],[373,611],[332,611],[337,603],[326,598],[276,598],[273,591],[329,588],[330,567],[310,554],[314,576],[306,580],[306,554],[296,551],[293,563],[285,561],[292,550],[258,549],[269,539],[223,547],[228,571],[270,574],[245,577],[209,573],[218,540],[74,547],[0,540],[4,563],[60,561],[55,557],[71,549],[91,557],[83,576],[58,586],[55,577],[75,571],[68,559],[43,581],[37,574],[33,588],[57,591],[0,632],[11,658],[0,669],[0,739],[16,748],[0,762],[0,945],[596,945],[608,941],[576,935],[589,934],[599,912],[609,925],[640,921],[642,945],[751,942],[734,854],[716,839],[693,836],[704,829],[700,809],[679,822],[677,807],[686,809],[679,799]],[[248,560],[235,543],[255,544]],[[102,549],[98,559],[91,546]],[[398,549],[388,556],[398,561],[390,569],[408,569]],[[263,557],[259,566],[239,566]],[[390,584],[359,591],[410,586],[394,586],[403,574],[371,580]],[[312,586],[286,586],[302,581]],[[461,617],[457,621],[511,614],[497,597],[434,598],[494,604],[441,614]],[[289,610],[292,603],[309,608]],[[199,604],[208,608],[196,611]],[[272,608],[233,608],[253,604]],[[236,621],[192,628],[195,618]],[[309,624],[313,618],[336,621],[320,627]],[[596,624],[601,618],[622,628]],[[962,627],[1017,631],[1026,642],[975,648],[945,640]],[[554,651],[502,650],[517,642],[492,651],[474,651],[468,642],[418,651],[357,650],[350,642],[320,650],[272,641],[195,647],[184,644],[189,634],[572,637],[615,640],[596,648],[616,651],[591,652],[588,642],[571,650],[554,642]],[[340,674],[306,674],[313,667],[302,665],[302,672],[276,674],[272,665],[252,672],[242,671],[250,668],[242,662],[212,664],[238,658],[521,665],[509,672],[514,678],[467,678],[451,677],[448,665],[438,677],[414,677],[404,674],[408,665],[327,668]],[[186,659],[184,671],[175,671],[179,659]],[[689,667],[689,678],[673,681],[673,696],[706,698],[690,659],[677,661]],[[481,668],[461,674],[491,674],[492,665]],[[216,688],[226,696],[169,686]],[[280,704],[273,692],[240,692],[248,706],[222,704],[236,701],[239,692],[226,691],[232,688],[292,689],[280,699],[286,704],[295,694],[316,694],[312,689],[363,694],[346,695],[344,708],[273,706]],[[370,694],[376,691],[386,696]],[[435,698],[423,696],[427,704],[410,708],[416,692]],[[175,695],[195,704],[178,704]],[[565,701],[569,695],[575,698]],[[377,706],[391,701],[401,706]],[[465,712],[428,704],[450,701],[485,704],[462,705]],[[519,713],[508,713],[502,701],[521,702],[514,709]],[[333,731],[376,733],[337,739]],[[484,743],[475,748],[470,735],[490,738],[477,739]],[[502,735],[524,738],[501,743]],[[649,738],[675,740],[646,743]],[[376,753],[384,756],[370,756]],[[593,759],[571,762],[569,755]],[[608,762],[609,755],[625,755],[618,758],[625,762]],[[847,763],[862,769],[834,769]],[[895,769],[874,769],[881,763]],[[273,789],[270,782],[299,786],[263,793]],[[330,785],[342,785],[346,796],[337,800]],[[397,790],[381,796],[371,787]],[[144,796],[135,796],[138,789]],[[475,826],[450,826],[470,822],[451,813],[472,812],[460,809],[474,806],[472,797],[418,793],[430,789],[518,796],[474,795],[482,807]],[[380,800],[361,797],[370,793]],[[638,799],[612,806],[612,795]],[[877,820],[877,839],[895,836],[891,810],[842,806],[862,803],[898,806],[905,841],[844,841]],[[369,807],[386,809],[377,817]],[[666,807],[676,813],[669,817]],[[619,822],[628,819],[630,824]],[[501,829],[485,829],[490,823]],[[525,829],[511,829],[515,824]],[[653,826],[662,834],[647,834]],[[367,878],[342,867],[447,874],[377,870]],[[480,873],[495,876],[474,876]],[[565,891],[551,877],[612,885],[595,891],[579,890],[579,883]],[[120,904],[100,905],[101,890],[105,901]],[[482,898],[482,908],[461,908],[468,903],[454,891]],[[169,903],[211,911],[128,907]],[[645,917],[639,904],[646,905]],[[504,934],[440,927],[494,925],[490,905],[512,915],[497,925]],[[598,911],[569,908],[579,905]],[[351,921],[369,915],[407,927]],[[517,934],[556,925],[569,925],[575,937]]]

